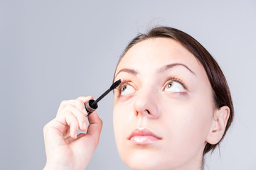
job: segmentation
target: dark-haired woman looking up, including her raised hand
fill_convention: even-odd
[[[168,27],[138,35],[122,54],[114,81],[114,135],[131,169],[202,169],[233,120],[223,72],[190,35]],[[86,125],[84,103],[63,101],[44,128],[45,169],[85,169],[97,147],[102,120]],[[78,130],[86,134],[78,134]]]

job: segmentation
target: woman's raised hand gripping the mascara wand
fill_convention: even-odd
[[[43,128],[46,147],[46,169],[85,169],[98,145],[102,120],[94,111],[88,116],[85,103],[92,97],[63,101],[55,119]],[[78,130],[86,131],[80,133]]]

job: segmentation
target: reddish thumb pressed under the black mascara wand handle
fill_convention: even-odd
[[[91,113],[87,118],[90,123],[87,134],[93,137],[96,142],[95,146],[97,146],[100,139],[100,132],[102,130],[102,120],[99,118],[96,111]]]

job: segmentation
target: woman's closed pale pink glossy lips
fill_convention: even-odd
[[[142,130],[136,129],[132,131],[128,140],[136,145],[149,145],[161,140],[161,137],[156,136],[153,132],[144,128]]]

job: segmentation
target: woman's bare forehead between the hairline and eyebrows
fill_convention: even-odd
[[[154,72],[163,65],[176,62],[186,64],[194,72],[202,72],[203,69],[196,57],[176,40],[149,38],[137,43],[127,51],[117,66],[117,72],[122,68]]]

